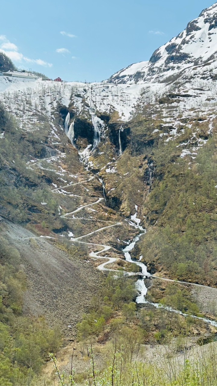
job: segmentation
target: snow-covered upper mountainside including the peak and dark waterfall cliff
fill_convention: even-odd
[[[100,152],[111,141],[116,159],[130,141],[135,148],[137,125],[141,144],[146,143],[144,122],[135,123],[141,117],[149,122],[150,143],[179,139],[188,130],[177,146],[181,157],[193,159],[215,128],[216,81],[217,3],[157,49],[149,62],[132,64],[108,81],[58,83],[1,76],[0,101],[23,129],[35,130],[42,116],[52,141],[60,140],[59,130],[64,130],[74,147],[87,149],[85,155]],[[203,119],[198,121],[198,115]]]

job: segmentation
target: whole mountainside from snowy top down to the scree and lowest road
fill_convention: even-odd
[[[1,77],[0,214],[101,270],[130,271],[139,235],[151,274],[216,286],[216,10],[130,76]]]

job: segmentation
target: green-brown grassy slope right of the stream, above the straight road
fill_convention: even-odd
[[[161,107],[156,109],[160,112]],[[216,131],[214,129],[207,144],[197,151],[196,159],[181,158],[180,144],[190,141],[189,146],[197,146],[197,142],[194,145],[195,130],[199,138],[207,138],[206,117],[186,120],[180,116],[183,122],[177,130],[180,135],[165,141],[164,133],[170,129],[162,125],[162,115],[156,114],[154,120],[150,116],[151,113],[146,117],[138,115],[129,123],[131,144],[121,157],[116,154],[117,173],[101,171],[108,202],[113,198],[119,200],[117,209],[124,217],[134,214],[135,204],[139,205],[139,217],[144,219],[147,234],[133,254],[136,258],[143,255],[152,273],[163,270],[170,278],[215,286]],[[159,131],[154,132],[155,129]],[[108,147],[108,141],[101,145],[100,151],[104,150],[103,146]],[[96,162],[105,164],[106,154],[108,151],[105,156],[98,156]]]

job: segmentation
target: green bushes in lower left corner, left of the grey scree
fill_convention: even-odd
[[[32,384],[49,351],[61,344],[58,328],[22,316],[25,289],[20,254],[0,237],[0,385]]]

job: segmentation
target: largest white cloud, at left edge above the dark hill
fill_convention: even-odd
[[[36,63],[39,66],[43,67],[52,67],[52,63],[45,62],[42,59],[30,59],[24,56],[21,52],[18,52],[19,49],[16,44],[11,43],[5,35],[0,35],[0,51],[7,55],[12,61],[17,62],[19,64],[22,63]]]

